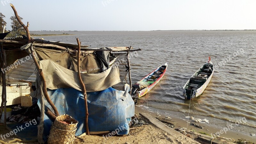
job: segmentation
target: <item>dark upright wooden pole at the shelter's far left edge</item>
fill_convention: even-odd
[[[2,68],[4,69],[6,67],[6,55],[3,48],[3,43],[1,43],[1,56],[2,56]],[[2,77],[2,97],[4,94],[4,127],[6,127],[6,81],[5,81],[5,72],[3,72]],[[2,110],[1,110],[2,111]],[[3,114],[3,113],[2,113]],[[2,116],[1,116],[2,117]]]

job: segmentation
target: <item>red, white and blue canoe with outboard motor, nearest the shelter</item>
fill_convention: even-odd
[[[139,82],[132,85],[132,98],[137,99],[147,94],[158,82],[163,78],[167,70],[167,62],[154,71],[149,73],[147,76],[142,78]]]

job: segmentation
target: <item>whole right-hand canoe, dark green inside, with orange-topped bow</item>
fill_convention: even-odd
[[[183,95],[185,99],[189,100],[201,95],[210,83],[213,72],[214,67],[211,62],[211,57],[209,57],[209,61],[199,68],[184,85]]]

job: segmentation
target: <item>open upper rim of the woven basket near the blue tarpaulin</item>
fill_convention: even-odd
[[[65,121],[70,124],[63,124],[60,121]],[[60,115],[60,116],[56,117],[53,125],[61,130],[72,131],[72,130],[76,129],[77,123],[78,123],[78,121],[69,115]]]

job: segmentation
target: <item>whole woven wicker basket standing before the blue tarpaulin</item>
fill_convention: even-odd
[[[70,124],[64,124],[65,121]],[[72,124],[71,124],[72,123]],[[48,144],[72,144],[75,140],[78,121],[68,115],[57,116],[50,130]]]

